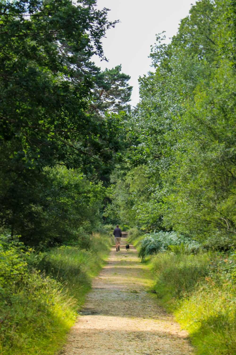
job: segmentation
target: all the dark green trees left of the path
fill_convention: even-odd
[[[101,220],[100,180],[121,159],[132,90],[120,65],[91,61],[117,22],[107,13],[95,0],[0,4],[0,228],[25,244],[78,238]]]

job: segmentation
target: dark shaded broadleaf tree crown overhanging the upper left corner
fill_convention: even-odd
[[[6,1],[0,5],[0,136],[27,166],[90,168],[111,159],[116,130],[88,114],[110,26],[96,2]],[[113,120],[116,125],[116,121]],[[109,144],[110,150],[104,148]]]

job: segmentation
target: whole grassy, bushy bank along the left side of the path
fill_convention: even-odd
[[[52,355],[61,347],[111,241],[94,234],[89,244],[87,250],[62,246],[35,255],[1,237],[1,355]]]

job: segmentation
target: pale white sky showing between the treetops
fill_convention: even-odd
[[[122,65],[122,72],[131,76],[133,86],[131,105],[139,101],[138,77],[150,70],[150,46],[156,34],[166,31],[166,42],[177,33],[180,20],[189,14],[193,0],[97,0],[97,8],[110,9],[110,21],[120,20],[107,31],[103,50],[109,62],[93,57],[102,70]]]

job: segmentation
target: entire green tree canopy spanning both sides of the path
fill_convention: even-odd
[[[77,221],[73,230],[103,213],[107,223],[234,244],[235,1],[197,1],[171,43],[157,35],[135,109],[121,65],[102,72],[91,60],[105,59],[101,41],[117,22],[108,9],[0,6],[1,225],[25,242],[36,229],[56,241],[66,225],[49,228],[57,213]]]

